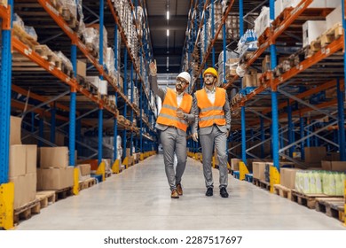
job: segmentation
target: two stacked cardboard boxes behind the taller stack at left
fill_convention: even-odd
[[[68,167],[67,147],[42,147],[39,154],[37,190],[62,190],[74,185],[74,167]]]

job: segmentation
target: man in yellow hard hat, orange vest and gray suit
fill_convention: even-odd
[[[219,189],[222,198],[228,198],[227,136],[231,129],[231,110],[225,89],[216,87],[216,69],[208,67],[203,73],[204,88],[197,90],[193,97],[193,140],[200,136],[203,156],[203,174],[207,187],[206,196],[213,196],[213,175],[211,159],[215,145],[219,161]],[[197,128],[200,128],[197,133]]]

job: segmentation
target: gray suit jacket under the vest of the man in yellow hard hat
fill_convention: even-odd
[[[227,94],[226,94],[226,101],[224,103],[223,109],[224,109],[224,117],[226,119],[226,125],[224,125],[224,126],[218,126],[217,125],[217,128],[219,128],[221,132],[226,133],[228,130],[231,129],[231,109],[230,109],[230,103],[229,103]],[[193,113],[195,116],[195,120],[193,123],[193,130],[192,130],[193,134],[197,133],[198,123],[200,121],[200,111],[201,111],[201,109],[197,105],[197,98],[195,95],[193,95]],[[212,129],[213,129],[212,126],[207,127],[207,128],[200,128],[199,133],[200,133],[200,135],[208,135],[211,133]]]

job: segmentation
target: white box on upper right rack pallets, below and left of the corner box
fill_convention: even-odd
[[[308,20],[303,24],[303,47],[326,31],[326,20]]]

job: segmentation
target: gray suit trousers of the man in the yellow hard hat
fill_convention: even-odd
[[[207,188],[213,188],[213,174],[211,172],[211,159],[213,157],[213,146],[215,143],[217,151],[217,159],[219,161],[219,182],[220,188],[227,187],[228,185],[228,170],[227,170],[227,152],[226,152],[226,143],[227,143],[227,133],[220,131],[219,128],[213,126],[211,133],[208,135],[201,135],[201,148],[203,155],[203,174],[206,182]]]

